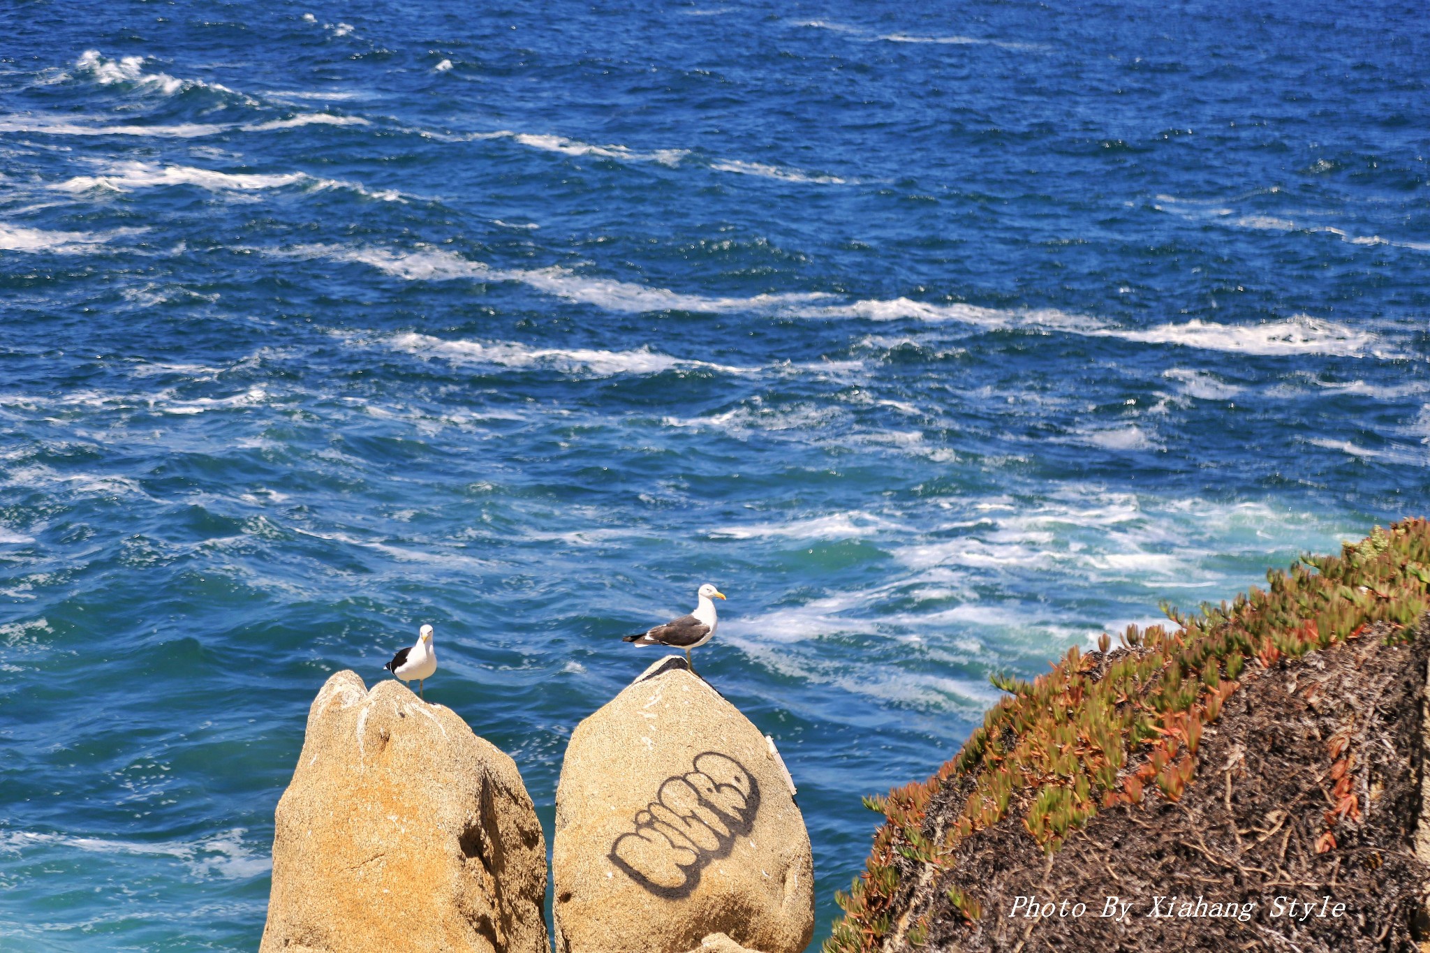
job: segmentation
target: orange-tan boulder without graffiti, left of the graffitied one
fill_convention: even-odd
[[[545,953],[546,844],[516,764],[395,680],[327,680],[277,803],[260,953]]]

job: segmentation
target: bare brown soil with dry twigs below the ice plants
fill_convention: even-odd
[[[1141,652],[1093,656],[1090,674]],[[1014,812],[940,863],[898,854],[882,949],[1417,950],[1427,656],[1421,619],[1248,672],[1178,797],[1107,807],[1052,853]],[[932,794],[924,839],[944,836],[972,783]],[[1108,897],[1130,906],[1104,916]]]

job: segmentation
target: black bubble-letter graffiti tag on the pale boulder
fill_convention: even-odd
[[[759,813],[759,786],[739,762],[702,752],[694,769],[661,782],[655,800],[632,819],[633,830],[616,837],[606,854],[646,892],[668,900],[691,896],[701,872],[729,856]]]

